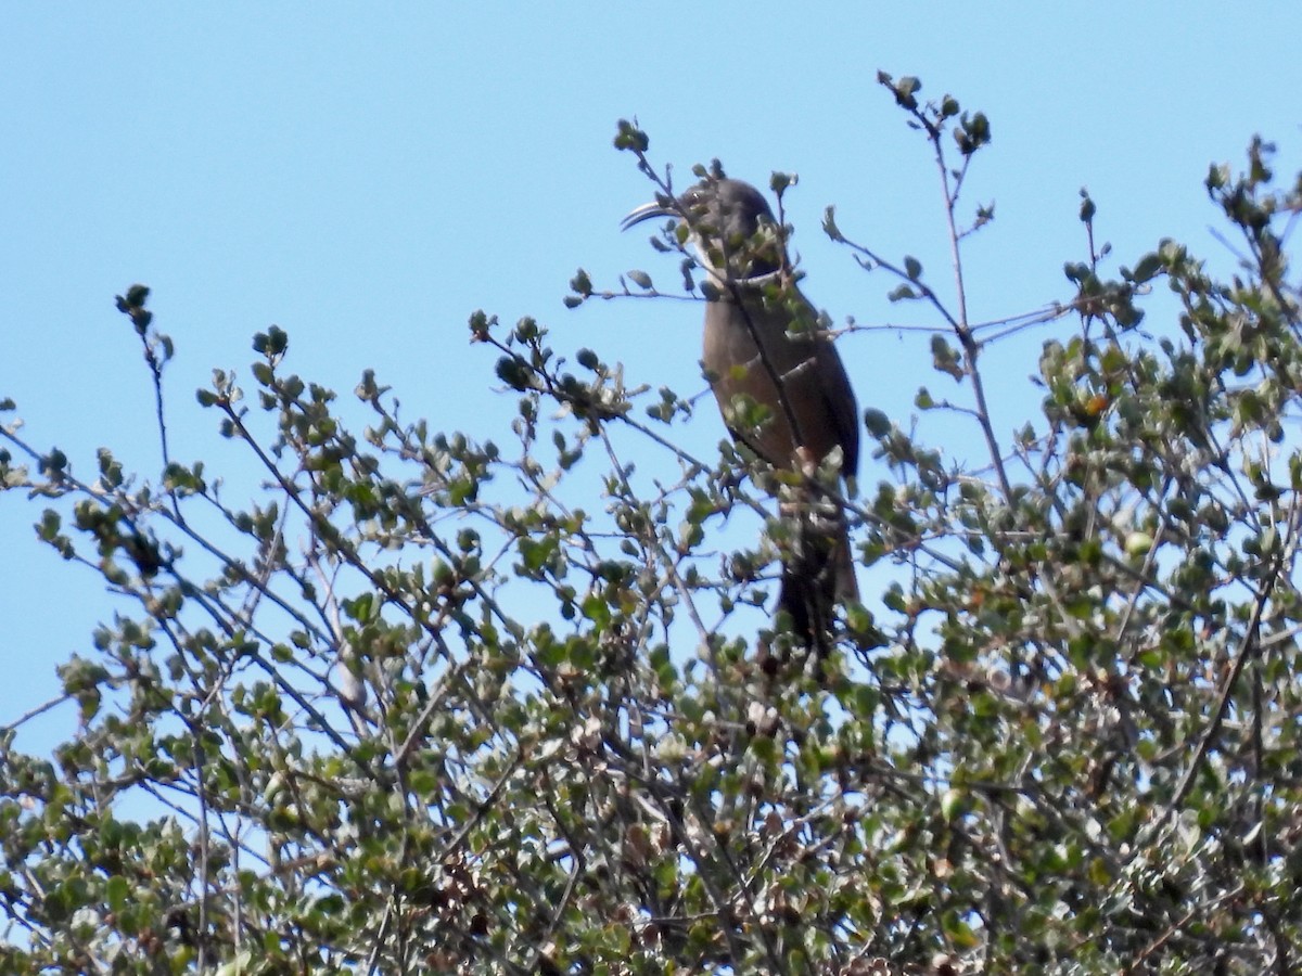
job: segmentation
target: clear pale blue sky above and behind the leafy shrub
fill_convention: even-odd
[[[617,230],[648,193],[611,148],[621,116],[684,174],[712,156],[758,183],[798,172],[789,216],[814,302],[918,320],[819,230],[836,203],[846,233],[944,280],[935,173],[879,69],[992,121],[967,187],[969,204],[997,203],[969,252],[974,319],[1068,295],[1082,186],[1120,260],[1170,236],[1228,264],[1200,182],[1254,133],[1279,143],[1282,172],[1302,168],[1297,26],[1295,4],[1203,0],[7,4],[0,397],[81,471],[111,445],[155,476],[152,394],[112,305],[135,281],[178,347],[174,453],[219,467],[237,455],[193,390],[212,367],[247,377],[249,340],[272,323],[299,375],[346,393],[374,367],[409,418],[478,436],[514,402],[466,342],[480,307],[535,315],[557,347],[592,346],[630,381],[700,389],[697,310],[561,306],[578,265],[599,286],[634,267],[677,277],[646,233]],[[896,418],[937,385],[911,340],[841,350],[861,403]],[[1032,370],[1013,360],[1008,381]],[[702,411],[690,436],[720,433]],[[87,652],[112,612],[95,578],[36,544],[38,514],[0,497],[0,724],[52,694],[53,664]]]

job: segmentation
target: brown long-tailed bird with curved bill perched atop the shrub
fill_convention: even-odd
[[[837,603],[858,600],[845,513],[837,497],[859,463],[854,389],[819,314],[801,294],[783,229],[764,195],[710,174],[680,197],[660,195],[621,229],[654,217],[687,226],[708,276],[702,364],[724,424],[775,468],[832,476],[805,484],[801,517],[784,553],[779,613],[825,657]],[[754,405],[764,407],[756,424]]]

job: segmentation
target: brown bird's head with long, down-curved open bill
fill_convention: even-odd
[[[702,265],[719,281],[767,278],[786,264],[768,200],[741,180],[710,177],[681,197],[660,197],[629,213],[620,228],[651,217],[685,223]]]

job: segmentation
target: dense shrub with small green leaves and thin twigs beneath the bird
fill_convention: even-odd
[[[475,314],[518,396],[509,446],[400,419],[371,373],[355,432],[272,328],[251,397],[220,371],[199,392],[267,479],[243,505],[171,461],[171,341],[147,289],[118,299],[161,478],[107,449],[85,476],[3,428],[0,484],[122,612],[60,668],[81,721],[52,760],[0,729],[0,968],[1302,966],[1302,180],[1276,189],[1260,141],[1211,169],[1229,281],[1173,241],[1112,275],[1085,197],[1070,299],[978,327],[961,258],[993,206],[960,203],[990,122],[880,81],[935,156],[953,298],[824,228],[930,310],[950,393],[917,407],[986,457],[867,411],[876,484],[842,501],[875,586],[818,675],[751,609],[783,541],[750,487],[772,472],[674,448],[676,393]],[[671,194],[644,133],[616,143]],[[684,236],[658,246],[699,297]],[[1144,332],[1161,284],[1178,321]],[[644,272],[572,288],[660,295]],[[1043,410],[1008,436],[982,357],[1031,327]],[[638,472],[652,455],[672,476]],[[572,487],[594,467],[600,498]],[[729,515],[768,531],[713,552]]]

